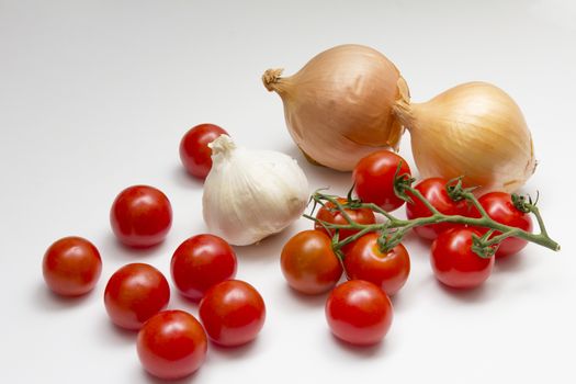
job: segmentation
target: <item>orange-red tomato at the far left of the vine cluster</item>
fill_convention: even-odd
[[[314,295],[331,290],[342,275],[342,266],[325,231],[303,230],[282,249],[282,273],[289,285]]]

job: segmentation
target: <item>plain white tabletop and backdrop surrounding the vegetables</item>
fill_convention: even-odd
[[[213,122],[240,143],[296,157],[314,188],[349,176],[312,167],[284,127],[280,98],[260,75],[300,69],[320,50],[361,43],[403,71],[414,100],[459,82],[507,90],[531,126],[540,166],[526,191],[563,250],[529,246],[499,263],[481,290],[454,294],[433,279],[427,247],[410,238],[413,272],[394,298],[385,342],[337,342],[325,297],[292,293],[279,268],[302,219],[260,246],[237,248],[238,278],[268,305],[258,340],[211,346],[183,383],[574,383],[576,257],[573,199],[576,5],[572,1],[25,1],[0,0],[0,382],[155,383],[135,335],[113,327],[102,293],[122,264],[169,273],[173,249],[204,230],[202,184],[184,174],[178,144]],[[409,155],[409,137],[402,154]],[[564,180],[562,180],[564,179]],[[174,210],[167,241],[147,251],[114,240],[110,204],[148,183]],[[41,260],[67,235],[91,239],[104,269],[95,291],[63,301]],[[171,308],[196,314],[172,292]]]

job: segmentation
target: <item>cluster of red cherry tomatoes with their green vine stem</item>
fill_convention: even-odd
[[[313,194],[315,229],[304,230],[284,246],[281,268],[289,285],[305,294],[331,291],[326,318],[332,334],[353,345],[372,345],[388,331],[389,296],[406,283],[410,258],[402,244],[411,229],[431,240],[436,278],[454,289],[473,289],[492,273],[495,259],[519,252],[528,241],[553,250],[530,199],[490,192],[479,199],[461,179],[430,178],[413,187],[407,162],[382,150],[366,156],[353,172],[347,197]],[[391,212],[406,204],[402,219]],[[377,222],[376,214],[384,221]],[[532,233],[531,215],[540,234]],[[337,285],[342,274],[348,281]]]

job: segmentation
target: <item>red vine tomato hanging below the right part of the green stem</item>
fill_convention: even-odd
[[[472,250],[473,228],[453,228],[432,242],[430,262],[436,278],[448,286],[472,289],[490,275],[494,257],[484,259]]]

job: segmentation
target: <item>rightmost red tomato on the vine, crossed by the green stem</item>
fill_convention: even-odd
[[[509,193],[490,192],[481,196],[478,202],[494,221],[526,231],[532,231],[532,218],[530,214],[518,210],[513,205],[512,196]],[[476,212],[476,216],[479,217],[479,213]],[[487,231],[486,228],[478,228],[478,230],[483,234]],[[494,236],[500,233],[496,231]],[[521,238],[508,237],[500,242],[500,246],[496,250],[496,258],[518,253],[527,244],[528,241]]]

